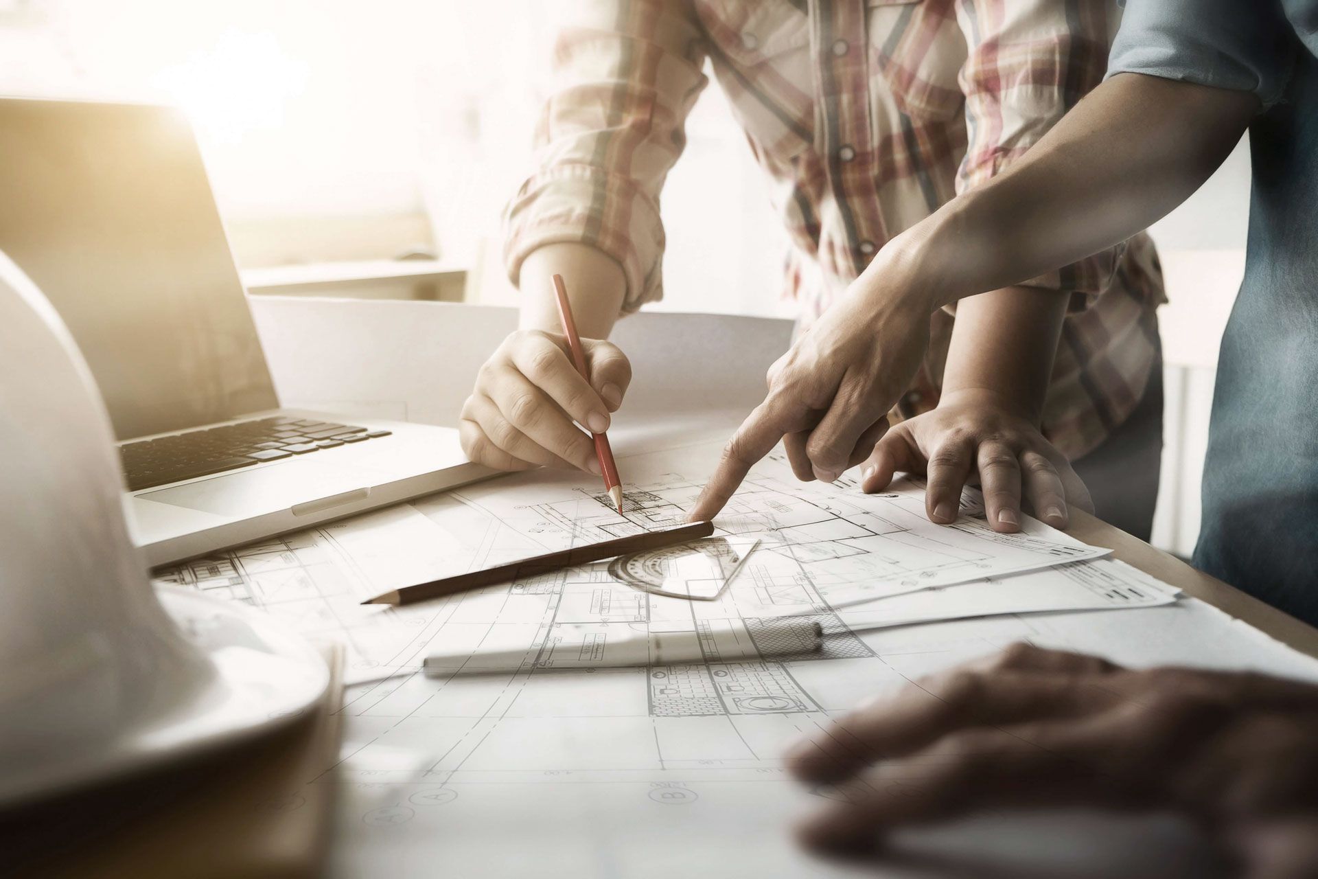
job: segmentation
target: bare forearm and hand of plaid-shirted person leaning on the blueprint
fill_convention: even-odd
[[[861,488],[882,492],[896,472],[925,474],[925,510],[946,525],[978,472],[988,525],[1007,532],[1020,528],[1021,499],[1058,528],[1069,506],[1093,511],[1083,482],[1039,430],[1066,299],[1039,287],[963,299],[938,406],[884,434]]]

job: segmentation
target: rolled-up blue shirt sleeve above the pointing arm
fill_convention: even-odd
[[[1145,74],[1281,99],[1293,50],[1281,4],[1265,0],[1128,0],[1107,75]]]

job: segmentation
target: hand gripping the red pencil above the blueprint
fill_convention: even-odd
[[[519,329],[503,340],[463,405],[463,451],[501,470],[567,467],[600,473],[590,436],[602,434],[622,405],[631,364],[608,341],[583,339],[590,381],[572,365],[567,337]]]

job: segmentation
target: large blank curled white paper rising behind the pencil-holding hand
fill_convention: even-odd
[[[252,297],[285,406],[455,427],[517,311],[444,302]],[[612,340],[633,381],[609,438],[619,455],[721,439],[764,395],[792,322],[638,314]],[[729,344],[735,340],[735,344]],[[308,369],[314,364],[314,369]]]

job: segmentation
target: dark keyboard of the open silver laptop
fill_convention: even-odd
[[[362,443],[389,431],[319,422],[310,418],[262,418],[206,431],[125,443],[119,447],[128,490],[137,492],[198,476]]]

